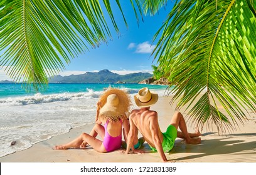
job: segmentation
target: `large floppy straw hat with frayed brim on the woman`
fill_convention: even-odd
[[[122,89],[108,88],[100,96],[102,108],[99,111],[99,118],[103,120],[117,121],[118,119],[127,119],[131,107],[129,94]]]

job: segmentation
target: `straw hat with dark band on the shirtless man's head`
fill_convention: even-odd
[[[158,100],[158,94],[153,91],[149,91],[148,88],[142,88],[134,96],[134,101],[140,108],[146,108],[155,104]]]

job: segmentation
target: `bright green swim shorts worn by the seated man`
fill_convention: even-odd
[[[166,129],[166,132],[163,133],[163,150],[165,153],[168,153],[173,149],[175,139],[177,138],[177,129],[173,125],[169,125]],[[151,146],[150,146],[151,147]],[[156,148],[151,147],[153,151],[157,151]]]

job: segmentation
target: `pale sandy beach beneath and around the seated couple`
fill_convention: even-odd
[[[171,97],[161,97],[152,106],[159,113],[161,130],[165,131],[173,116],[175,104],[169,105]],[[185,109],[185,108],[184,108]],[[250,111],[249,111],[250,112]],[[186,115],[183,110],[181,113]],[[177,163],[256,163],[256,116],[250,112],[248,121],[239,124],[232,133],[219,135],[215,126],[211,131],[206,127],[201,131],[201,144],[191,145],[183,139],[176,139],[168,159]],[[81,133],[89,133],[93,125],[85,125],[71,129],[69,133],[55,136],[33,145],[24,151],[18,151],[0,158],[1,163],[160,163],[158,153],[152,152],[147,143],[142,149],[144,154],[97,153],[92,148],[54,150],[53,147],[76,138]],[[193,132],[194,126],[188,124],[188,131]],[[141,135],[140,135],[141,136]],[[15,145],[14,145],[15,146]]]

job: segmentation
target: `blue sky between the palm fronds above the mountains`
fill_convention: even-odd
[[[111,1],[110,1],[111,2]],[[61,76],[70,74],[83,74],[88,72],[97,72],[102,69],[109,69],[113,73],[128,74],[137,72],[152,73],[151,65],[156,65],[154,56],[151,56],[152,49],[156,43],[152,38],[157,30],[162,26],[168,12],[173,7],[173,2],[169,1],[167,6],[155,15],[143,16],[144,21],[139,21],[136,17],[129,1],[125,3],[124,15],[128,23],[125,26],[122,16],[119,15],[119,9],[114,8],[114,14],[120,29],[120,36],[111,29],[112,40],[108,38],[108,44],[102,44],[100,47],[90,49],[77,58],[71,59],[70,64],[65,64],[65,70],[60,73]],[[141,19],[141,17],[140,17]],[[3,68],[0,68],[0,80],[11,80]]]

